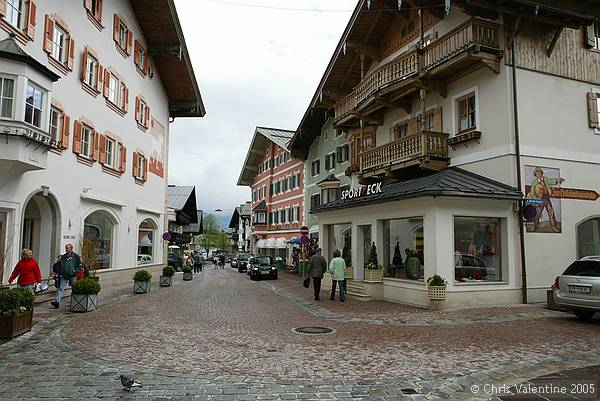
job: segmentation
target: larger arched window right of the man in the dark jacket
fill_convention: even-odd
[[[85,218],[82,259],[90,269],[112,266],[114,223],[106,212],[96,211]]]

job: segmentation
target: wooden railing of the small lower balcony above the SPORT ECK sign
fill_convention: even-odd
[[[448,158],[448,134],[421,131],[374,149],[360,156],[362,172],[391,168],[394,165],[412,164],[425,159]]]

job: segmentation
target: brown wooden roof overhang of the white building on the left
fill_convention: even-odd
[[[169,98],[171,117],[206,114],[173,0],[131,0],[148,54]]]

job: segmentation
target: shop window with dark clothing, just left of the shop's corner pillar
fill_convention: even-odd
[[[422,217],[384,220],[383,243],[385,277],[423,281],[425,236]]]

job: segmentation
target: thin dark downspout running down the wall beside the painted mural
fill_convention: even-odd
[[[517,186],[519,191],[523,190],[523,180],[521,178],[521,142],[519,135],[519,107],[517,104],[517,60],[515,54],[515,39],[513,38],[510,46],[511,58],[512,58],[512,90],[513,90],[513,121],[515,129],[515,159],[517,163]],[[521,247],[521,293],[523,303],[527,303],[527,266],[525,258],[525,232],[524,232],[524,221],[523,221],[523,202],[519,202],[519,242]]]

